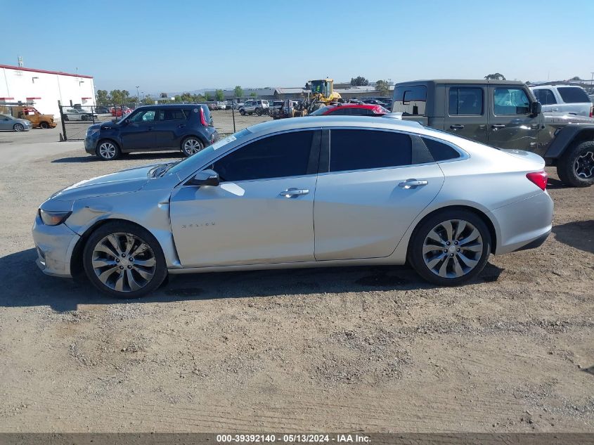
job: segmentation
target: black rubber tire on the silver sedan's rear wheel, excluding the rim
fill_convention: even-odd
[[[453,234],[450,244],[446,245],[444,243],[443,245],[439,245],[437,242],[434,243],[431,238],[427,238],[434,228],[437,228],[440,224],[445,224],[446,221],[454,221],[450,225],[452,228],[451,233]],[[456,223],[456,221],[465,222],[465,226],[460,233],[456,233],[458,228],[460,228],[460,223]],[[474,232],[471,231],[471,228],[479,232],[479,237],[470,240],[464,245],[462,243],[458,245],[459,240],[464,241],[465,239],[472,238],[470,234]],[[443,233],[446,235],[445,230]],[[480,243],[482,243],[482,248]],[[436,249],[428,251],[427,257],[425,257],[423,253],[425,246],[434,247],[438,245],[439,247]],[[461,247],[464,252],[460,252],[460,248],[458,247]],[[471,252],[470,249],[479,249],[480,252]],[[422,220],[415,228],[411,241],[408,244],[408,262],[423,279],[430,283],[453,286],[472,280],[481,273],[489,259],[490,252],[491,233],[484,221],[477,214],[466,209],[444,209]],[[439,257],[443,257],[443,261]],[[436,261],[437,263],[431,269],[428,264]],[[444,269],[445,277],[440,276],[438,273],[441,272],[441,266],[444,263],[447,263]],[[453,269],[456,264],[463,271],[463,275],[456,276],[456,271]],[[468,264],[472,264],[472,267],[468,266]],[[438,266],[439,271],[437,271]],[[468,270],[463,270],[465,268]]]

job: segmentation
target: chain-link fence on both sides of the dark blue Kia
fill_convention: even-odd
[[[86,137],[86,130],[93,124],[101,122],[119,121],[122,117],[134,111],[134,105],[58,105],[60,108],[60,120],[62,124],[62,137],[64,141],[83,141]],[[233,134],[246,127],[260,122],[272,120],[272,117],[265,112],[262,115],[242,115],[238,110],[228,107],[224,110],[212,109],[209,105],[214,127],[219,134]]]

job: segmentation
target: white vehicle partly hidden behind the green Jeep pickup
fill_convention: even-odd
[[[594,104],[581,86],[550,84],[531,86],[530,89],[543,105],[543,112],[594,117]]]

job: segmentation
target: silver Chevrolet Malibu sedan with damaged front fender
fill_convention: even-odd
[[[168,273],[405,262],[458,285],[490,254],[547,238],[544,165],[389,117],[265,122],[52,195],[33,228],[37,264],[126,298]]]

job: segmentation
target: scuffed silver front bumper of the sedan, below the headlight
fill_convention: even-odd
[[[65,224],[46,226],[35,217],[33,241],[37,250],[37,266],[47,275],[72,277],[70,258],[80,236]]]

